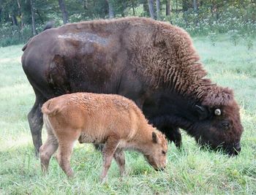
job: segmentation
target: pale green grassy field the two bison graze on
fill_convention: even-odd
[[[183,131],[184,148],[169,145],[165,172],[126,152],[126,176],[119,177],[113,161],[104,184],[102,157],[91,145],[75,145],[71,180],[55,158],[42,175],[26,119],[34,93],[20,64],[23,45],[0,47],[0,194],[256,194],[256,42],[247,50],[242,42],[234,46],[227,37],[217,38],[215,46],[206,37],[194,38],[195,47],[208,77],[235,91],[244,125],[241,154],[229,158],[200,150]]]

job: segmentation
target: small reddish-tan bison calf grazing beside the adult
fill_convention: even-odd
[[[57,161],[67,176],[72,176],[70,156],[76,140],[105,144],[102,180],[113,158],[123,175],[123,149],[126,148],[143,153],[155,169],[165,168],[165,136],[148,124],[134,102],[123,96],[71,93],[48,100],[43,104],[42,112],[48,132],[48,138],[39,150],[43,172],[48,170],[50,157],[59,148]]]

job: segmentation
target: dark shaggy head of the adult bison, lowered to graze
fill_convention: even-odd
[[[223,148],[230,156],[241,150],[243,131],[239,107],[233,99],[233,92],[225,88],[221,93],[210,93],[202,105],[195,105],[199,120],[190,131],[200,145]]]

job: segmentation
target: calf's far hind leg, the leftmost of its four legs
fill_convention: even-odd
[[[50,158],[56,152],[58,146],[58,140],[53,133],[48,134],[46,142],[39,149],[42,172],[48,171]]]

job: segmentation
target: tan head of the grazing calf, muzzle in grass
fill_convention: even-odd
[[[148,151],[144,156],[154,169],[162,170],[166,166],[167,140],[159,131],[152,132],[151,143],[147,146]]]

